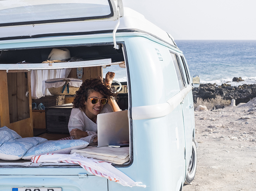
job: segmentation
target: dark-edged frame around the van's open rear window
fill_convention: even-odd
[[[127,57],[127,51],[126,51],[126,47],[125,47],[125,42],[124,41],[118,41],[117,44],[122,45],[122,50],[123,50],[123,54],[124,54],[124,62],[125,62],[125,70],[126,70],[126,77],[127,77],[127,86],[131,87],[131,78],[130,78],[130,71],[129,71],[129,63],[128,63],[128,57]],[[86,44],[79,44],[79,46],[104,46],[104,45],[114,45],[113,42],[109,42],[109,43],[86,43]],[[69,44],[69,45],[58,45],[58,46],[39,46],[39,47],[24,47],[24,48],[15,48],[15,50],[18,49],[34,49],[34,48],[62,48],[62,47],[72,47],[72,46],[77,46],[77,44]],[[5,50],[9,50],[9,49],[5,49]],[[6,64],[8,65],[8,64]],[[100,66],[100,65],[99,65]],[[88,66],[89,67],[89,66]],[[75,67],[73,67],[75,68]],[[0,69],[2,70],[2,69]],[[24,69],[20,69],[20,71],[24,71]],[[40,70],[40,69],[38,69]],[[50,69],[46,69],[46,70],[50,70]],[[130,167],[133,164],[133,124],[132,124],[132,97],[131,97],[131,88],[129,88],[128,91],[128,119],[129,119],[129,129],[130,129],[130,145],[129,145],[129,157],[130,160],[128,163],[126,164],[122,164],[122,165],[118,165],[118,164],[112,164],[113,167]],[[4,163],[3,163],[4,164]],[[21,165],[1,165],[0,162],[0,168],[13,168],[13,167],[21,167]],[[22,167],[27,167],[27,168],[38,168],[38,167],[68,167],[68,168],[79,168],[79,165],[69,165],[68,163],[66,165],[43,165],[43,166],[22,166]]]

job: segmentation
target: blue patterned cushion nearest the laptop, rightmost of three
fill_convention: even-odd
[[[47,153],[70,154],[72,149],[84,149],[88,144],[80,139],[46,141],[28,150],[22,159],[30,160],[33,156]]]

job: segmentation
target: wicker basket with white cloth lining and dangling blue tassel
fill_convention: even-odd
[[[82,80],[76,78],[57,78],[46,80],[46,83],[46,87],[48,87],[48,90],[52,95],[74,95],[82,84]],[[58,87],[59,84],[63,85]],[[78,87],[72,86],[72,84],[75,84]]]

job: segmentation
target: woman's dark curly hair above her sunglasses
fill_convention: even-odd
[[[80,108],[84,110],[84,103],[92,91],[99,92],[107,99],[110,96],[114,96],[110,89],[108,89],[108,87],[106,87],[100,79],[86,79],[80,88],[76,91],[74,101],[72,102],[74,104],[74,108]]]

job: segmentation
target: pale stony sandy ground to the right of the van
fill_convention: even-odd
[[[183,191],[256,191],[256,99],[195,112],[197,169]]]

